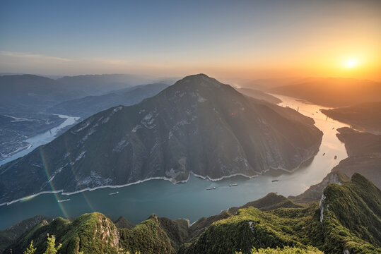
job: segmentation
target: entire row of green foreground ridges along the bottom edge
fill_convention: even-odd
[[[302,205],[269,193],[242,207],[202,217],[192,225],[186,219],[156,214],[136,226],[124,218],[114,224],[98,212],[83,214],[72,222],[35,217],[0,231],[0,243],[8,241],[0,250],[5,248],[4,254],[11,249],[15,254],[23,253],[33,240],[36,253],[43,253],[49,234],[56,236],[56,246],[62,243],[63,254],[252,253],[252,248],[279,248],[254,254],[381,252],[380,189],[353,174],[347,183],[324,188],[320,197],[319,203]]]

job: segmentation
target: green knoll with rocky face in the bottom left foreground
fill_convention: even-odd
[[[115,225],[98,212],[83,214],[73,222],[57,218],[47,223],[42,222],[4,253],[22,253],[29,246],[31,240],[36,246],[36,253],[43,253],[46,248],[47,234],[56,236],[56,242],[62,243],[60,253],[117,253],[119,248],[119,233]]]

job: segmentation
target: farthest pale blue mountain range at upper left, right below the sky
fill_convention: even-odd
[[[104,95],[112,90],[157,81],[155,78],[124,74],[78,75],[57,80],[29,74],[2,75],[0,114],[35,114],[69,99]]]

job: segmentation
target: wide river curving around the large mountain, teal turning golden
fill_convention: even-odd
[[[275,96],[282,99],[281,106],[295,110],[299,107],[301,114],[315,119],[315,125],[324,133],[317,155],[293,173],[278,170],[252,179],[235,176],[221,181],[190,176],[187,183],[179,184],[151,180],[122,188],[100,188],[73,195],[42,194],[1,206],[0,229],[37,214],[53,218],[75,218],[85,212],[102,212],[112,219],[124,216],[134,224],[152,213],[159,217],[187,218],[194,222],[200,217],[218,214],[228,207],[257,200],[270,192],[285,196],[303,193],[309,186],[322,181],[341,159],[347,157],[344,143],[336,138],[336,129],[347,125],[322,114],[320,109],[327,109],[326,107],[305,104],[291,97]],[[335,155],[337,159],[334,159]],[[230,183],[238,183],[238,186],[229,187]],[[216,189],[207,191],[206,188],[210,187]],[[110,193],[115,194],[109,195]]]

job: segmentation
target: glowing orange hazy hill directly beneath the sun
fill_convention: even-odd
[[[381,83],[353,78],[308,78],[303,83],[274,87],[269,91],[327,107],[381,101]]]

